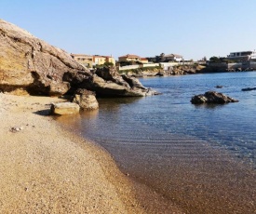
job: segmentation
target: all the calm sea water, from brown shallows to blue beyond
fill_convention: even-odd
[[[256,90],[241,91],[255,87],[256,73],[140,80],[163,94],[99,100],[99,111],[81,114],[71,126],[186,213],[256,212]],[[208,90],[239,102],[190,103]]]

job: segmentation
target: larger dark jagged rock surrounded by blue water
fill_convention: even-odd
[[[227,102],[237,102],[238,100],[230,98],[222,93],[216,91],[208,91],[205,94],[195,95],[191,102],[193,104],[202,104],[202,103],[218,103],[223,104]]]

